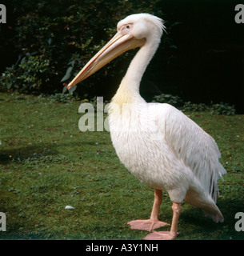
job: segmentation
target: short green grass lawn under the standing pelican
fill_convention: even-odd
[[[154,190],[119,162],[110,134],[78,130],[80,102],[66,104],[26,95],[0,94],[0,239],[140,239],[148,232],[126,222],[149,218]],[[211,134],[228,174],[219,182],[216,224],[186,203],[177,239],[243,239],[234,215],[244,212],[243,115],[188,114]],[[65,206],[74,210],[65,210]],[[171,222],[168,194],[160,219]],[[169,227],[162,228],[162,230]]]

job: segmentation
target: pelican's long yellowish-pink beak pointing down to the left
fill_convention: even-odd
[[[118,55],[124,53],[126,50],[141,47],[145,43],[146,39],[134,38],[132,34],[120,34],[119,32],[114,35],[114,38],[102,47],[98,53],[90,59],[90,61],[82,68],[77,76],[69,83],[67,88],[70,90],[71,87],[82,82],[88,78],[91,74],[105,66],[108,62],[118,57]]]

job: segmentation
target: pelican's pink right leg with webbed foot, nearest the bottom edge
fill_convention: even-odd
[[[154,231],[153,233],[148,234],[144,239],[171,240],[177,237],[177,234],[178,234],[177,226],[178,226],[178,218],[181,212],[181,204],[178,202],[173,202],[172,210],[173,210],[173,219],[172,219],[170,231],[159,231],[159,232]]]

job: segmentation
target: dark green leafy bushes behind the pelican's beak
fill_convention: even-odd
[[[3,31],[0,39],[14,46],[18,61],[3,72],[1,89],[28,93],[62,92],[62,83],[74,78],[114,35],[118,20],[136,12],[162,16],[162,11],[157,8],[158,2],[10,0],[8,4],[14,6],[8,8],[15,17],[14,37],[3,34]],[[106,67],[110,69],[110,78],[115,76],[113,67],[116,62],[119,60]],[[105,76],[106,72],[94,75],[80,90],[89,92],[90,85],[99,84]]]

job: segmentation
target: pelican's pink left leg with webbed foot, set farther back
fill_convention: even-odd
[[[154,190],[154,206],[150,215],[150,219],[146,220],[135,220],[127,222],[130,225],[130,229],[133,230],[147,230],[151,231],[158,229],[161,226],[169,225],[166,222],[160,222],[158,220],[158,212],[162,202],[162,190]]]

